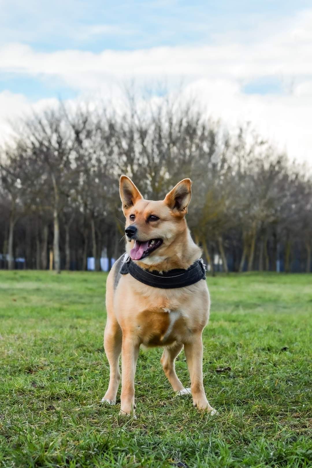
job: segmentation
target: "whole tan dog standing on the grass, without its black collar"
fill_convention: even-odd
[[[126,217],[126,252],[142,269],[187,270],[201,256],[184,218],[191,199],[191,181],[179,182],[162,201],[145,200],[134,183],[120,178],[120,197]],[[209,319],[206,281],[174,289],[143,284],[120,274],[123,257],[107,278],[107,324],[104,348],[109,360],[109,387],[102,402],[116,403],[122,353],[122,414],[134,414],[134,376],[141,344],[163,346],[161,364],[178,395],[192,394],[193,404],[214,414],[203,388],[202,332]],[[184,346],[191,388],[178,379],[174,360]]]

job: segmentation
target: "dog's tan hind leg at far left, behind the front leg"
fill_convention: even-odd
[[[116,404],[120,382],[119,356],[122,346],[122,331],[115,317],[108,318],[104,331],[104,349],[109,361],[109,387],[102,402]]]

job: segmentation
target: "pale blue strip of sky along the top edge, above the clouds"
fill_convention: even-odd
[[[261,22],[277,26],[283,17],[311,7],[311,2],[2,0],[0,5],[0,44],[99,52],[207,44],[228,32],[249,40]]]

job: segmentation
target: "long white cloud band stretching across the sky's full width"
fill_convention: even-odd
[[[106,26],[90,26],[96,34]],[[36,52],[23,44],[0,48],[0,70],[58,76],[66,83],[93,88],[108,76],[206,76],[247,80],[258,76],[312,75],[312,10],[292,24],[253,44],[232,43],[192,47],[156,47],[135,51],[65,50]],[[77,76],[79,74],[79,76]],[[92,77],[94,78],[92,80]]]

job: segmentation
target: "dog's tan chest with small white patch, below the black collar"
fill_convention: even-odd
[[[208,321],[209,293],[204,282],[160,290],[126,275],[118,288],[117,320],[147,346],[185,343]]]

